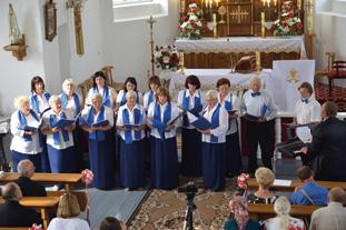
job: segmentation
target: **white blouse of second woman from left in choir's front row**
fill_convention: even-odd
[[[69,113],[68,111],[65,111],[65,110],[61,110],[65,112],[66,114],[66,119],[68,120],[73,120],[73,116],[71,113]],[[50,116],[51,114],[55,114],[55,112],[52,110],[49,110],[48,112],[46,112],[43,114],[43,124],[42,124],[42,129],[46,129],[46,128],[50,128],[51,129],[51,126],[50,126]],[[57,116],[57,120],[60,120],[60,114]],[[51,146],[52,148],[55,149],[67,149],[69,147],[72,147],[75,143],[73,143],[73,136],[72,136],[72,132],[71,131],[68,131],[69,133],[69,140],[68,141],[63,141],[63,136],[62,136],[62,131],[59,131],[59,139],[60,139],[60,143],[59,144],[56,144],[55,143],[55,139],[53,139],[53,134],[47,134],[47,144]]]

